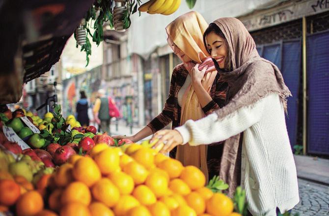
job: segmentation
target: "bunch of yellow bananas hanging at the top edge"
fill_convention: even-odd
[[[181,0],[149,0],[140,5],[138,10],[149,14],[170,15],[178,9],[180,4]]]

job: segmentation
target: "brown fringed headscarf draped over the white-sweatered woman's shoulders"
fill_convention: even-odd
[[[214,24],[220,28],[227,40],[232,65],[232,71],[223,72],[217,62],[214,62],[222,80],[228,82],[229,86],[226,106],[216,111],[218,120],[240,108],[255,104],[271,93],[280,96],[286,110],[286,98],[291,96],[291,93],[284,84],[281,72],[272,62],[259,56],[255,42],[242,22],[236,18],[220,18],[214,21]],[[228,195],[231,197],[240,184],[241,140],[241,134],[225,140],[220,163],[219,176],[229,184]]]

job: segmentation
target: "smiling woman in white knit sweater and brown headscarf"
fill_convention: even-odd
[[[229,184],[228,194],[232,196],[241,184],[253,216],[291,210],[299,193],[284,118],[286,97],[291,94],[280,71],[259,57],[251,35],[235,18],[210,24],[204,43],[221,78],[228,82],[226,106],[175,130],[159,131],[152,139],[165,143],[162,153],[185,143],[225,140],[219,176]]]

